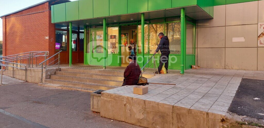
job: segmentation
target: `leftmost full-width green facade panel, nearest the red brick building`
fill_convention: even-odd
[[[65,3],[56,4],[53,7],[54,7],[54,22],[66,21]]]

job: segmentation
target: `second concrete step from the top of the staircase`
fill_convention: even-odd
[[[67,72],[59,71],[56,75],[72,76],[72,77],[82,77],[82,78],[96,78],[96,79],[107,79],[107,80],[119,80],[123,81],[124,77],[120,75],[105,75],[105,74],[93,74],[93,73],[77,73],[77,72]]]

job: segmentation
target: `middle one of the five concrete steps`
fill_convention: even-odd
[[[111,86],[122,86],[123,83],[123,81],[118,81],[118,80],[83,78],[83,77],[73,77],[73,76],[65,76],[65,75],[51,75],[50,79],[66,80],[66,81],[82,82],[82,83],[103,84],[103,85],[111,85]]]

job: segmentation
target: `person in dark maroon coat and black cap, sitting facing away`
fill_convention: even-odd
[[[124,83],[125,85],[136,85],[139,80],[139,76],[141,74],[140,67],[138,63],[136,63],[136,56],[130,55],[129,57],[129,65],[126,67],[124,72]]]

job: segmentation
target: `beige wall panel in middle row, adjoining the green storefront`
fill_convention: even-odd
[[[198,48],[224,48],[225,26],[198,28]]]

